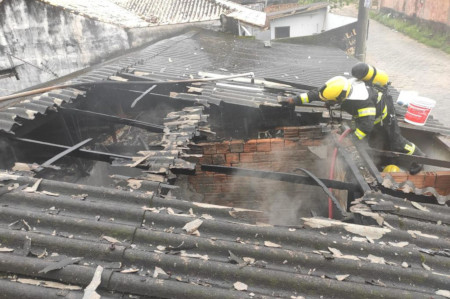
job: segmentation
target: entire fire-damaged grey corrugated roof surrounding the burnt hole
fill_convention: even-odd
[[[336,69],[345,72],[354,62],[337,49],[281,43],[265,48],[246,39],[191,32],[155,43],[74,82],[132,76],[173,80],[199,77],[199,72],[253,71],[260,79],[320,86],[336,75]],[[174,96],[254,106],[274,102],[274,94],[261,88],[264,82],[256,83],[210,83],[202,86],[202,95]],[[161,139],[166,150],[185,148],[195,136],[200,122],[192,124],[183,116],[199,109],[167,115]],[[183,121],[178,122],[180,118]],[[201,116],[195,119],[206,121]],[[178,134],[185,129],[188,134]],[[151,156],[140,163],[144,161],[154,162]],[[170,160],[165,165],[175,164]],[[167,177],[113,180],[114,186],[94,187],[22,173],[0,174],[0,272],[9,274],[0,278],[3,294],[449,296],[447,206],[368,192],[351,208],[356,223],[303,218],[298,226],[271,226],[263,224],[265,215],[260,211],[186,201],[184,194],[176,195],[177,188]]]

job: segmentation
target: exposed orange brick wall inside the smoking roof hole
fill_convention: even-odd
[[[299,209],[304,215],[310,215],[313,209],[325,216],[327,199],[319,187],[204,172],[200,168],[201,164],[214,164],[293,173],[302,167],[318,177],[326,177],[327,159],[319,159],[308,149],[326,144],[321,128],[284,127],[282,130],[283,138],[197,144],[194,150],[203,157],[198,160],[196,175],[189,177],[191,189],[203,195],[207,203],[266,211],[272,223],[287,224],[298,219]]]

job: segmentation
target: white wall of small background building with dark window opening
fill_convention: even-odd
[[[275,28],[289,26],[290,37],[313,35],[325,30],[327,9],[308,14],[297,14],[270,21],[270,36],[275,39]]]

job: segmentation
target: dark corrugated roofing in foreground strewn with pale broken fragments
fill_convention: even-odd
[[[163,183],[130,193],[42,180],[30,191],[35,178],[0,178],[11,189],[0,199],[0,271],[17,275],[1,280],[6,294],[36,277],[77,298],[98,266],[98,292],[112,296],[440,298],[449,285],[448,207],[367,194],[354,212],[371,226],[274,227],[248,223],[256,211],[176,199]]]

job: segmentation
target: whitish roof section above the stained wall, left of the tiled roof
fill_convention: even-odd
[[[58,6],[71,13],[79,14],[105,23],[127,28],[147,27],[150,24],[134,13],[112,3],[102,0],[40,0]]]

